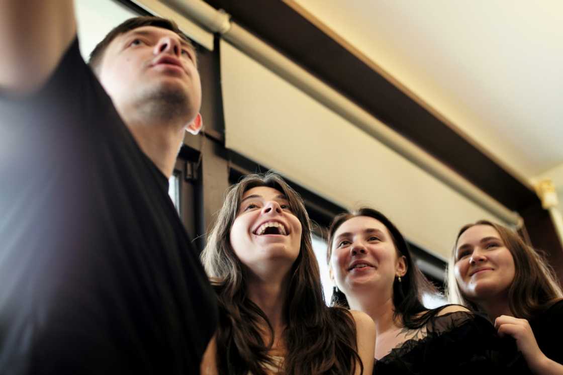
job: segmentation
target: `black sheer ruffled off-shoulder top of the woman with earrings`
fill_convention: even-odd
[[[373,373],[529,373],[515,341],[498,337],[483,316],[464,311],[437,316],[437,312],[431,311],[422,334],[378,360]]]

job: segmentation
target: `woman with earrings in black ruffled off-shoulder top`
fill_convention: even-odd
[[[374,374],[494,373],[510,370],[514,347],[463,306],[427,309],[436,292],[415,265],[403,235],[371,208],[343,213],[329,229],[333,305],[366,312],[376,323]]]

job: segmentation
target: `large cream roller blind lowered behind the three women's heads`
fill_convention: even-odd
[[[221,41],[226,146],[346,208],[370,206],[434,255],[459,228],[501,221]]]

